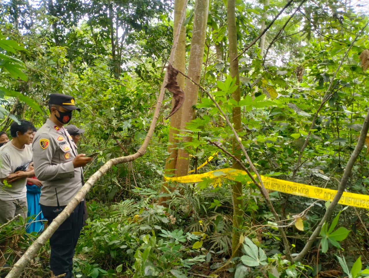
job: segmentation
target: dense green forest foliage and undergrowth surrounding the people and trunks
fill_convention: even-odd
[[[199,0],[198,0],[199,1]],[[239,53],[277,17],[286,1],[237,1]],[[292,1],[266,32],[263,53],[251,45],[239,57],[241,101],[232,98],[226,6],[210,3],[196,116],[178,130],[177,148],[190,154],[190,170],[216,152],[196,173],[232,167],[231,118],[241,108],[238,137],[260,174],[337,189],[368,110],[368,72],[361,53],[369,48],[363,3]],[[268,4],[269,3],[269,4]],[[360,6],[360,5],[363,6]],[[170,1],[0,0],[0,128],[28,119],[40,127],[50,93],[75,96],[73,124],[86,132],[80,153],[99,155],[85,167],[86,179],[107,160],[135,153],[145,138],[164,78],[173,40]],[[299,6],[300,5],[300,6]],[[186,45],[193,6],[187,8]],[[188,56],[188,55],[187,55]],[[187,81],[190,82],[190,81]],[[86,197],[89,220],[75,256],[76,277],[360,277],[369,265],[369,217],[364,209],[339,205],[311,250],[286,259],[277,226],[292,253],[299,253],[329,202],[270,191],[277,223],[258,187],[243,186],[242,224],[232,227],[230,180],[164,183],[169,153],[170,94],[154,136],[138,160],[113,166]],[[191,140],[182,140],[190,136]],[[306,144],[305,144],[306,142]],[[362,150],[346,190],[367,194],[368,156]],[[165,184],[175,190],[159,204]],[[302,225],[302,226],[301,226]],[[37,235],[16,223],[1,228],[11,238],[8,263],[18,260]],[[242,255],[231,258],[232,233],[241,233]],[[24,277],[50,277],[46,244]],[[213,275],[213,276],[210,276]]]

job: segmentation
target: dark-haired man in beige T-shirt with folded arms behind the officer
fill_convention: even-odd
[[[0,152],[0,224],[20,216],[27,218],[26,183],[28,177],[35,175],[32,167],[32,149],[30,139],[33,138],[32,123],[20,120],[10,125],[13,138],[1,147]],[[0,267],[4,265],[4,252],[8,241],[0,243]]]

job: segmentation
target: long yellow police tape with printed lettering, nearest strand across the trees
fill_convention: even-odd
[[[239,176],[247,176],[247,173],[242,170],[225,168],[203,174],[195,174],[183,177],[164,177],[164,179],[166,181],[172,182],[193,183],[193,182],[201,182],[207,178],[209,179],[223,178],[234,180],[236,177]],[[337,190],[333,189],[326,189],[302,183],[289,182],[286,180],[274,179],[272,177],[261,176],[261,179],[266,189],[293,194],[297,196],[309,197],[313,199],[332,201],[337,193]],[[341,199],[339,199],[338,203],[346,206],[354,206],[361,207],[363,209],[369,209],[369,196],[357,193],[344,192],[341,196]]]

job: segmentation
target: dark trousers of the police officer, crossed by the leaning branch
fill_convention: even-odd
[[[70,216],[61,224],[50,238],[50,268],[55,276],[66,273],[65,278],[73,276],[73,256],[83,223],[84,201],[80,202]],[[58,207],[41,205],[42,213],[48,224],[59,213],[53,212]],[[64,209],[66,206],[60,206]]]

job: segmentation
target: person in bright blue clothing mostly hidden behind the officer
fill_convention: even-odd
[[[33,129],[32,135],[35,136],[37,129]],[[30,139],[30,143],[32,144],[33,136]],[[37,177],[27,178],[27,205],[28,205],[28,213],[27,217],[30,217],[28,220],[28,225],[26,227],[27,233],[40,233],[44,230],[44,216],[42,215],[41,206],[39,205],[40,195],[41,195],[41,186],[42,183]]]

